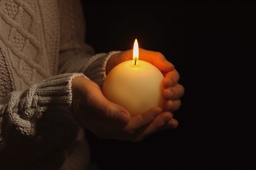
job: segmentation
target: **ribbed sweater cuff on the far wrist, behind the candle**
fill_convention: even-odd
[[[106,78],[106,63],[113,54],[119,52],[121,51],[112,51],[107,54],[97,54],[94,56],[94,58],[96,58],[95,61],[89,65],[89,67],[84,71],[84,74],[93,80],[93,82],[96,82],[100,88],[102,88],[103,82]]]

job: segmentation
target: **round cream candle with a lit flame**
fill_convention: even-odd
[[[119,63],[108,73],[102,93],[135,116],[152,107],[163,107],[162,81],[163,74],[157,67],[139,60],[139,45],[135,39],[133,60]]]

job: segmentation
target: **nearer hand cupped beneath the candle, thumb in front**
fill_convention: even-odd
[[[98,84],[87,78],[72,80],[72,95],[77,120],[102,139],[137,142],[157,131],[178,126],[173,115],[160,107],[131,117],[125,108],[108,101]]]

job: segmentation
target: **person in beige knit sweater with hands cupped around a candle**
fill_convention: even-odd
[[[164,75],[165,107],[131,117],[101,88],[132,50],[95,54],[85,31],[79,0],[0,1],[0,169],[86,169],[85,129],[139,142],[178,126],[171,113],[184,87],[174,65],[140,48],[140,59]]]

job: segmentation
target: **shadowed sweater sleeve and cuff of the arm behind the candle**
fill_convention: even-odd
[[[106,77],[106,62],[115,52],[95,54],[93,47],[85,42],[86,23],[80,1],[59,0],[58,10],[60,14],[58,74],[84,73],[102,86]]]

